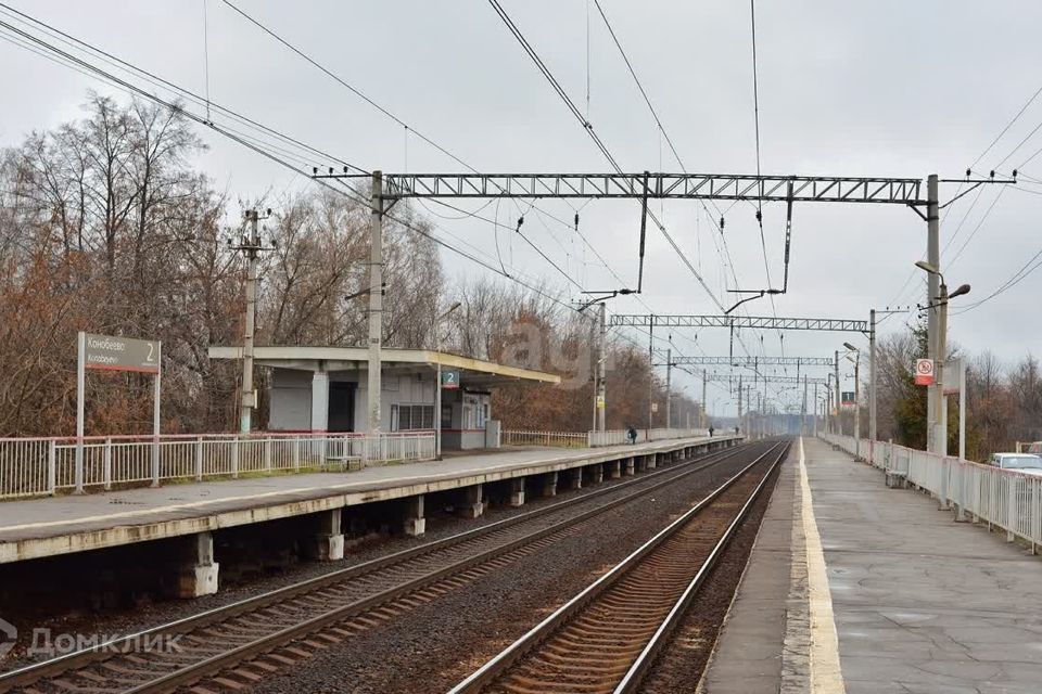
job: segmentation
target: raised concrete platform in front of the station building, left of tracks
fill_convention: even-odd
[[[735,437],[596,449],[522,449],[443,461],[171,485],[0,503],[0,564],[319,513],[634,455],[706,449]]]

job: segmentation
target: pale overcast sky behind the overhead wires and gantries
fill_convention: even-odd
[[[610,170],[484,0],[234,0],[409,130],[223,0],[5,1],[186,89],[204,94],[208,82],[215,104],[367,170],[461,170],[416,132],[482,171]],[[588,113],[623,169],[679,170],[593,0],[503,0],[503,7]],[[601,7],[684,166],[696,172],[755,172],[749,4],[601,0]],[[765,174],[925,179],[937,172],[957,178],[970,165],[977,171],[999,167],[1007,174],[1042,147],[1042,132],[1028,138],[1042,121],[1040,98],[988,150],[1042,86],[1038,2],[760,0],[755,11]],[[7,10],[0,20],[13,23]],[[88,89],[119,93],[12,44],[7,30],[2,37],[0,145],[79,117]],[[200,134],[211,149],[199,166],[232,198],[314,184],[220,134],[204,128]],[[1040,162],[1042,155],[1024,170],[1042,177]],[[942,187],[942,201],[958,191],[956,184]],[[945,210],[941,245],[950,246],[942,256],[944,272],[953,285],[974,286],[961,303],[971,306],[986,298],[1042,249],[1035,232],[1040,192],[1042,185],[1032,183],[986,187]],[[636,283],[637,203],[547,201],[535,210],[526,203],[462,207],[481,208],[485,219],[432,217],[439,235],[469,245],[492,265],[501,262],[563,300],[577,298],[576,283],[615,288],[615,275],[627,285]],[[570,220],[577,207],[580,231],[608,268],[573,230],[554,219]],[[735,286],[722,261],[724,241],[738,286],[767,285],[754,206],[720,203],[724,239],[698,203],[652,207],[721,301],[727,303],[725,290]],[[437,207],[431,211],[461,216]],[[493,219],[511,227],[521,213],[526,213],[526,234],[574,283],[509,229],[494,232]],[[778,286],[785,209],[767,205],[763,217],[766,261]],[[923,303],[922,273],[912,267],[925,247],[926,224],[907,208],[797,205],[789,293],[777,297],[774,308],[766,299],[746,308],[759,316],[776,311],[864,319],[871,308]],[[483,272],[450,252],[443,252],[443,259],[454,275]],[[612,312],[719,312],[663,236],[650,229],[645,277],[644,296],[613,300]],[[1031,274],[979,308],[954,314],[953,305],[951,339],[971,352],[991,349],[1005,360],[1038,351],[1042,322],[1032,320],[1031,309],[1040,286],[1042,273]],[[914,313],[889,319],[881,332],[904,329],[906,320],[914,320]],[[627,334],[647,342],[646,335]],[[672,337],[678,354],[728,351],[724,331],[674,331]],[[788,333],[784,350],[787,356],[827,356],[851,337]],[[776,333],[764,334],[762,347],[759,334],[744,338],[753,354],[782,354]],[[854,342],[864,344],[860,336]],[[675,382],[689,395],[700,395],[695,378],[677,374]],[[710,391],[711,402],[717,397],[717,410],[733,411],[726,394]]]

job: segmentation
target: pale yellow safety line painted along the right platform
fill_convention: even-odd
[[[814,519],[811,483],[806,476],[806,457],[803,437],[800,437],[800,489],[803,535],[806,538],[808,593],[811,608],[811,692],[813,694],[846,694],[843,673],[839,665],[839,637],[833,614],[833,597],[828,589],[822,536]]]

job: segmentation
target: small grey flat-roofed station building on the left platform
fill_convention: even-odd
[[[211,359],[242,359],[241,347],[209,348]],[[363,347],[255,347],[271,369],[268,429],[364,432],[369,352]],[[441,428],[443,450],[494,448],[499,422],[492,389],[514,383],[557,385],[560,376],[428,349],[381,349],[383,432]],[[437,374],[442,373],[441,412]]]

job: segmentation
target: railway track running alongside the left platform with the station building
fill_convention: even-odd
[[[577,531],[608,511],[746,454],[674,463],[435,542],[0,674],[0,692],[241,690]],[[141,644],[177,644],[141,651]]]

